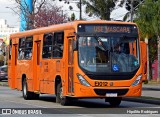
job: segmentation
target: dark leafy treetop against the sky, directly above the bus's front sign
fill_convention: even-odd
[[[121,0],[82,0],[82,4],[85,5],[85,12],[88,16],[97,16],[102,20],[110,20],[110,15],[117,6],[121,6]],[[118,2],[120,2],[118,4]],[[118,5],[116,5],[118,4]]]

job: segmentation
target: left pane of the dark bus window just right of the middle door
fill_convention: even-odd
[[[51,58],[53,34],[45,34],[43,39],[42,58]]]

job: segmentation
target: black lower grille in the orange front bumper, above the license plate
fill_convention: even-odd
[[[128,92],[128,89],[94,89],[94,91],[100,96],[105,96],[107,93],[117,93],[118,96],[122,96]]]

